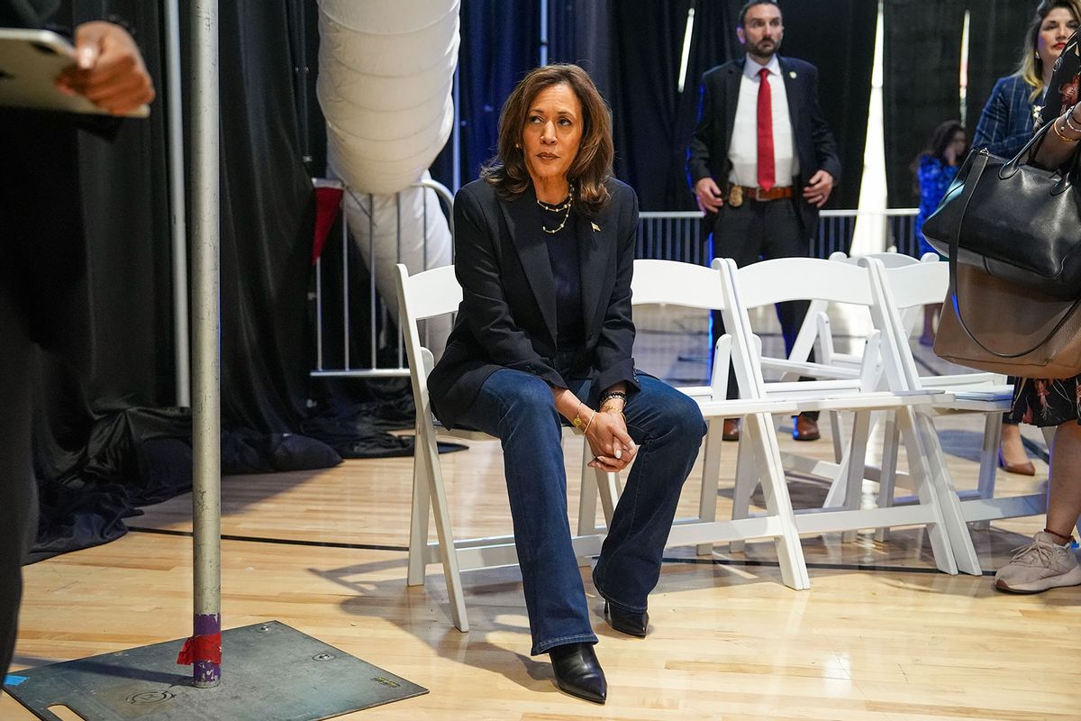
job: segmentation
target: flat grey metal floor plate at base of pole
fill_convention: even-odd
[[[222,683],[191,685],[184,639],[14,671],[4,691],[39,718],[319,721],[428,693],[277,620],[222,633]]]

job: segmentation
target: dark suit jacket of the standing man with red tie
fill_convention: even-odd
[[[818,209],[803,199],[802,189],[819,170],[832,175],[835,184],[840,183],[841,161],[837,156],[833,134],[818,107],[818,68],[795,57],[778,55],[777,61],[785,79],[792,139],[800,161],[800,174],[793,178],[792,185],[803,231],[810,237],[818,227]],[[704,177],[712,177],[722,188],[728,183],[732,170],[729,145],[736,121],[743,70],[744,58],[739,58],[707,70],[702,76],[698,124],[686,151],[686,174],[692,191],[694,184]]]

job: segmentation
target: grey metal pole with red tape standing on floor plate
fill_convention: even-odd
[[[191,39],[193,636],[205,647],[215,642],[219,646],[222,632],[217,0],[192,0]],[[198,654],[192,673],[196,687],[216,686],[222,678],[221,658],[214,653]]]

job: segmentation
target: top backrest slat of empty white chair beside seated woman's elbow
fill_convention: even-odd
[[[711,268],[679,261],[635,261],[630,281],[633,305],[673,305],[720,310],[721,277]]]

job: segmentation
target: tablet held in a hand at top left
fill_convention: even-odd
[[[52,30],[0,28],[0,106],[110,115],[82,95],[65,95],[54,81],[75,64],[75,48]],[[143,105],[126,114],[146,118]]]

